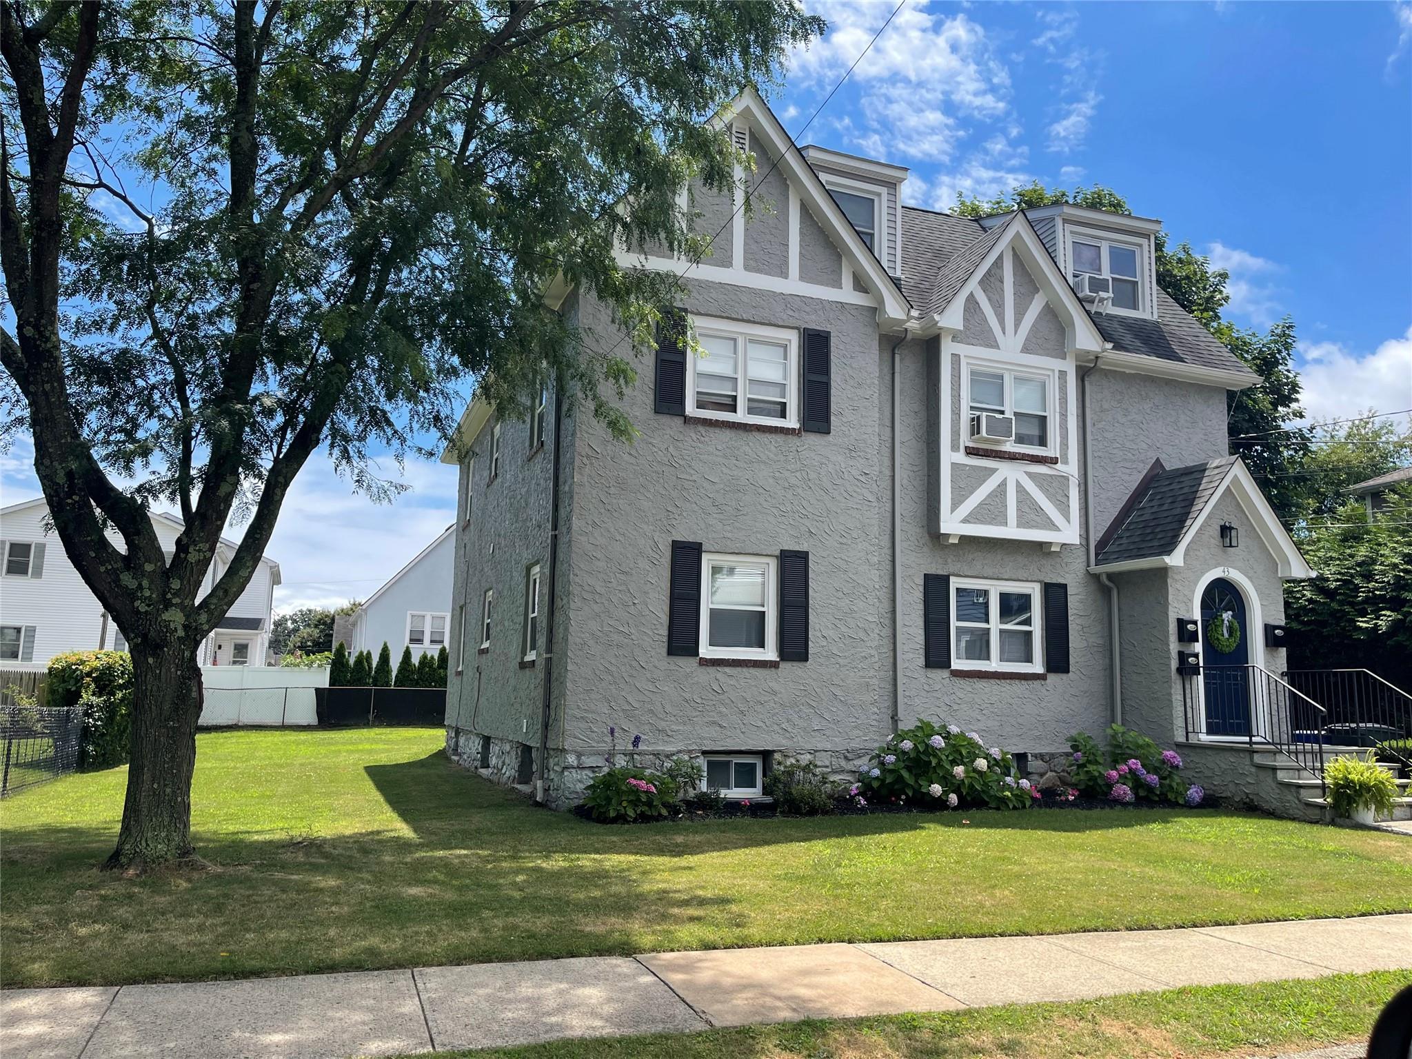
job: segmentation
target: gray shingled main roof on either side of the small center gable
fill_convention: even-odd
[[[907,299],[928,313],[945,309],[1007,229],[1008,225],[986,229],[969,217],[904,206],[902,292]],[[1156,312],[1155,321],[1117,313],[1090,315],[1099,333],[1118,352],[1236,371],[1254,380],[1250,369],[1166,291],[1158,289]]]

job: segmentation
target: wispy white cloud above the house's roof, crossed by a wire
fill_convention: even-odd
[[[850,0],[813,4],[829,20],[823,38],[791,56],[791,82],[832,88],[863,54],[894,4]],[[850,75],[858,86],[850,145],[873,157],[950,161],[967,120],[1010,110],[1010,71],[984,28],[964,13],[932,14],[909,3]]]

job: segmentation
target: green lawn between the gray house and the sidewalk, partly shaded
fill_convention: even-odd
[[[1227,812],[604,827],[449,764],[425,729],[198,737],[215,866],[97,870],[124,770],[0,806],[4,986],[1412,909],[1412,843]]]

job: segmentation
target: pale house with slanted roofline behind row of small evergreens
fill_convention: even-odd
[[[376,655],[385,642],[397,665],[404,645],[415,658],[449,642],[455,530],[448,525],[353,613],[346,641],[350,651]]]

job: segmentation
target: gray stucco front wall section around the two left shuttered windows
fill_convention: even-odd
[[[624,401],[641,438],[624,445],[597,422],[580,424],[565,748],[600,760],[611,726],[620,748],[641,734],[644,753],[789,748],[853,761],[888,731],[878,688],[885,552],[874,311],[705,281],[685,304],[832,332],[833,429],[761,433],[657,415],[650,364]],[[600,347],[616,342],[606,309],[587,298],[580,325]],[[809,661],[768,669],[668,657],[674,539],[707,552],[808,551]]]

